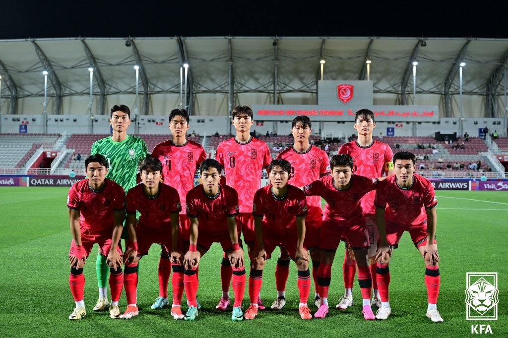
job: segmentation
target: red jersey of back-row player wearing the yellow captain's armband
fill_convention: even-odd
[[[370,146],[362,147],[357,141],[351,141],[340,146],[339,154],[348,154],[353,157],[353,170],[356,175],[367,177],[382,177],[393,169],[393,152],[389,145],[379,141],[372,141]],[[375,192],[370,191],[362,197],[362,210],[364,214],[375,214]]]

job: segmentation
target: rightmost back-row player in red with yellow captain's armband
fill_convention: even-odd
[[[356,113],[354,124],[358,132],[358,140],[345,143],[339,149],[339,154],[348,154],[353,157],[355,163],[353,171],[356,175],[382,177],[384,174],[386,174],[386,176],[393,174],[392,149],[389,145],[372,139],[372,131],[375,126],[374,113],[368,109],[359,110]],[[369,230],[369,258],[375,256],[378,238],[377,227],[375,226],[374,196],[375,191],[370,191],[362,197],[361,201],[363,214],[365,215],[365,223]],[[337,309],[347,309],[347,307],[353,305],[352,291],[355,281],[356,264],[348,254],[347,242],[345,242],[345,246],[344,262],[342,263],[344,296],[339,299],[339,303],[336,305]],[[373,283],[372,301],[370,305],[380,308],[381,301],[377,291],[375,267],[375,263],[370,265]]]

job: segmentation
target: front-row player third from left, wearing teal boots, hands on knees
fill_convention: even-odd
[[[233,268],[235,302],[231,319],[243,319],[241,306],[245,290],[245,268],[236,226],[238,193],[235,189],[219,183],[220,170],[221,166],[216,160],[204,160],[200,166],[203,184],[190,190],[186,196],[187,216],[190,218],[190,244],[183,259],[183,283],[189,302],[185,320],[194,320],[198,316],[198,263],[214,242],[220,243]]]

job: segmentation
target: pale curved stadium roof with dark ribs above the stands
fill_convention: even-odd
[[[184,62],[193,114],[228,115],[238,103],[272,104],[274,92],[279,104],[315,104],[321,59],[326,60],[324,80],[346,81],[366,80],[365,61],[371,60],[374,103],[379,104],[412,104],[411,63],[417,60],[417,103],[439,106],[442,117],[458,114],[458,70],[465,62],[463,93],[474,99],[471,114],[504,115],[508,40],[382,37],[2,40],[0,75],[7,103],[2,113],[27,113],[30,106],[23,100],[44,95],[43,70],[50,73],[51,111],[86,113],[90,66],[96,111],[104,113],[108,97],[117,101],[127,94],[134,100],[133,66],[139,64],[141,114],[160,114],[179,103]],[[70,104],[78,98],[79,105]]]

